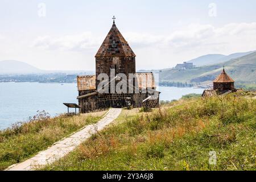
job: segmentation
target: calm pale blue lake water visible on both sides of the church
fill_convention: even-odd
[[[203,93],[203,89],[162,87],[160,100],[178,100],[185,94]],[[0,130],[19,121],[28,121],[36,111],[51,116],[67,112],[63,102],[77,103],[76,84],[40,84],[36,82],[0,82]]]

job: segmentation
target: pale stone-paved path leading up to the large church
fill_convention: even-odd
[[[36,167],[51,164],[55,160],[63,158],[69,152],[74,150],[79,144],[88,139],[92,134],[104,129],[105,126],[113,122],[118,117],[122,109],[110,109],[98,123],[85,126],[84,129],[71,135],[68,138],[60,140],[49,147],[47,150],[39,152],[36,156],[19,164],[14,164],[7,168],[7,171],[32,171]]]

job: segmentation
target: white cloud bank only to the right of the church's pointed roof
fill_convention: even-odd
[[[167,35],[127,34],[131,45],[138,44],[171,48],[221,48],[226,47],[254,47],[256,49],[256,23],[230,23],[223,27],[214,27],[210,24],[190,24],[181,30],[170,32]]]

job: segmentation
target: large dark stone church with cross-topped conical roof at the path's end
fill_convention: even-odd
[[[96,75],[77,76],[80,113],[109,107],[159,107],[160,92],[156,91],[153,73],[136,72],[136,55],[119,32],[115,21],[95,57]],[[124,80],[127,88],[121,86],[126,92],[117,92],[115,89],[110,92],[123,81],[123,77],[119,77],[120,73],[127,77]],[[102,74],[108,76],[104,86],[100,86],[99,77]],[[130,75],[133,77],[130,78]],[[102,89],[108,92],[102,93]]]

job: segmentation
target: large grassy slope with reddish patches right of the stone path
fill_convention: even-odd
[[[255,170],[256,100],[188,98],[123,113],[44,170]],[[209,164],[209,152],[217,154]]]

